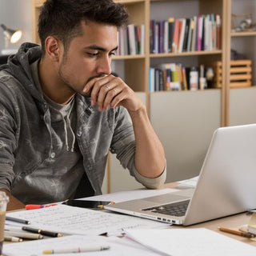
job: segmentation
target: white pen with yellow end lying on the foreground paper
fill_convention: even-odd
[[[73,253],[83,253],[90,251],[108,250],[110,246],[81,246],[66,249],[55,249],[55,250],[43,250],[42,254],[73,254]]]

